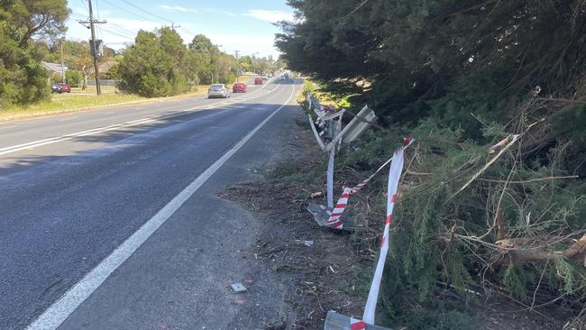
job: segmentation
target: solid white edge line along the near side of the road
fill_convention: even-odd
[[[219,170],[226,161],[228,161],[234,153],[239,151],[244,143],[248,142],[252,136],[257,133],[262,126],[267,124],[273,115],[279,113],[285,105],[288,105],[289,101],[295,95],[295,87],[291,92],[291,96],[288,97],[287,102],[284,105],[267,116],[261,124],[258,124],[250,133],[246,134],[242,140],[236,143],[232,149],[224,153],[219,159],[215,160],[205,172],[199,175],[197,179],[193,180],[187,188],[183,189],[179,195],[171,199],[171,201],[157,212],[156,215],[152,216],[149,221],[142,225],[134,234],[118,246],[114,252],[107,256],[101,261],[96,268],[86,274],[86,276],[79,280],[78,283],[73,286],[69,291],[63,295],[59,300],[55,301],[49,308],[47,308],[41,316],[39,316],[31,325],[27,327],[27,330],[54,330],[56,329],[71,313],[73,313],[81,303],[83,303],[97,288],[104,283],[104,281],[116,270],[120,265],[123,264],[133,252],[135,252],[150,236],[153,234],[161,225],[163,225],[171,215],[175,213],[185,203],[189,197],[196,193],[197,189],[206,183],[208,179]]]

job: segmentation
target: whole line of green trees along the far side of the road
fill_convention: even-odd
[[[49,77],[41,61],[60,63],[61,48],[71,85],[85,89],[95,77],[88,41],[63,37],[69,13],[66,0],[0,2],[0,107],[49,99],[50,83],[61,78],[59,73]],[[185,93],[198,84],[230,84],[239,73],[266,74],[282,65],[270,57],[237,60],[203,34],[185,44],[168,27],[138,32],[123,50],[105,47],[98,60],[104,63],[109,69],[100,78],[115,79],[122,92],[147,97]]]

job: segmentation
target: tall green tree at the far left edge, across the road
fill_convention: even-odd
[[[34,59],[31,38],[64,32],[68,14],[65,0],[0,1],[0,108],[49,97],[49,77]]]

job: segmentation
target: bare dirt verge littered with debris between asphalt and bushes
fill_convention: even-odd
[[[302,120],[302,119],[301,119]],[[299,171],[324,167],[325,157],[316,147],[308,130],[298,128],[298,139],[287,146],[288,164],[299,164]],[[256,169],[270,173],[275,166]],[[255,171],[256,171],[255,170]],[[361,251],[353,243],[353,234],[322,228],[307,212],[312,193],[322,194],[314,199],[324,203],[324,179],[313,184],[251,182],[228,188],[218,196],[241,203],[266,222],[267,230],[245,253],[260,267],[281,273],[290,280],[287,302],[291,307],[289,319],[266,325],[266,329],[322,329],[325,314],[335,310],[345,316],[361,317],[370,279],[364,270],[373,267],[376,252]],[[561,329],[563,321],[540,315],[525,307],[490,295],[481,299],[473,323],[478,329]],[[407,329],[398,327],[399,329]],[[430,329],[434,325],[429,325]]]

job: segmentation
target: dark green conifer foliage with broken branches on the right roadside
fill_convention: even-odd
[[[527,305],[545,302],[536,290],[562,297],[583,316],[586,2],[289,4],[299,20],[281,23],[276,41],[288,68],[367,103],[389,128],[345,165],[369,172],[401,136],[419,140],[391,240],[387,316],[418,328],[425,307],[456,310],[445,291],[495,285]]]

